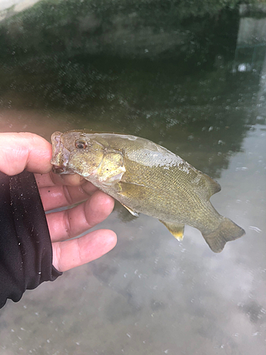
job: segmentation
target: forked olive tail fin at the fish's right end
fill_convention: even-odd
[[[214,253],[220,253],[227,241],[234,241],[245,234],[244,229],[235,224],[231,219],[222,217],[221,223],[209,234],[202,234]]]

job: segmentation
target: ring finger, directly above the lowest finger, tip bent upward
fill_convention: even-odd
[[[84,233],[104,221],[113,211],[113,198],[97,191],[86,202],[72,209],[46,216],[52,241],[62,241]]]

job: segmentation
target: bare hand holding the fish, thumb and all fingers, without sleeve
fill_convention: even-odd
[[[109,229],[74,236],[102,222],[113,210],[113,199],[79,175],[51,172],[52,147],[33,133],[0,133],[0,171],[16,175],[24,169],[35,173],[45,211],[82,202],[72,209],[47,214],[52,241],[52,265],[67,271],[104,255],[116,245]]]

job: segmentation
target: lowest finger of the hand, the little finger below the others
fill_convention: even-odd
[[[71,241],[52,243],[52,265],[58,271],[89,263],[116,246],[116,234],[109,229],[92,231]]]

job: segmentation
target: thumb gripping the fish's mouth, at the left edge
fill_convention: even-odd
[[[16,175],[24,169],[48,173],[52,146],[34,133],[0,133],[0,171]]]

